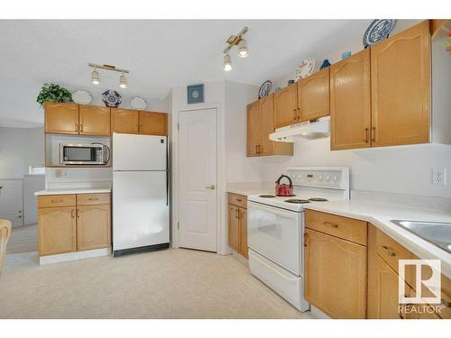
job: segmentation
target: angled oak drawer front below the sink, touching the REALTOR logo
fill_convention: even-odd
[[[393,240],[390,236],[382,233],[380,230],[376,231],[376,253],[381,256],[382,260],[385,260],[396,273],[399,273],[398,260],[412,259],[412,253],[409,250],[400,245],[399,242]],[[406,281],[410,284],[410,273],[406,272],[406,279],[408,279]]]

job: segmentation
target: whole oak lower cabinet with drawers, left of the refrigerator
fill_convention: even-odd
[[[39,196],[38,206],[40,256],[110,247],[110,194]]]

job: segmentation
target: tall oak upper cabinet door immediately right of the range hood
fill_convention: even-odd
[[[370,147],[370,50],[330,67],[330,147]]]

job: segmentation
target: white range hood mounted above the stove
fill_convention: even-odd
[[[288,127],[278,128],[270,134],[275,142],[304,142],[329,136],[330,116],[318,120],[301,122]]]

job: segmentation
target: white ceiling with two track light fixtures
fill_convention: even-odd
[[[291,73],[308,56],[327,57],[361,39],[370,20],[66,20],[0,21],[0,126],[41,125],[36,96],[44,82],[99,97],[163,99],[171,87],[228,79],[259,86]],[[249,27],[246,59],[231,53],[234,69],[223,70],[226,38]],[[325,58],[326,58],[325,57]],[[120,74],[100,70],[90,83],[88,62],[130,69],[128,88]]]

